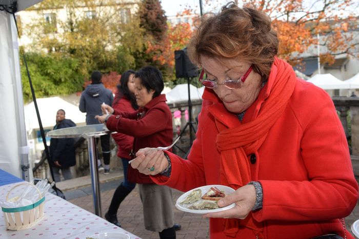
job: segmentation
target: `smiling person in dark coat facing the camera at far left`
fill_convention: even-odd
[[[65,110],[59,109],[56,113],[55,129],[63,129],[76,126],[73,121],[65,118]],[[60,170],[65,180],[72,178],[70,167],[76,164],[73,138],[51,138],[50,141],[50,166],[52,167],[55,182],[61,181]]]

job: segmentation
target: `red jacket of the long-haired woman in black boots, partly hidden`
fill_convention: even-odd
[[[136,110],[132,108],[130,100],[124,95],[119,101],[112,105],[115,111],[125,111],[133,113]],[[117,144],[117,156],[130,158],[130,152],[133,145],[133,137],[123,133],[111,134]]]

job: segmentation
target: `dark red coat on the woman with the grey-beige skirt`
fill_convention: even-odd
[[[107,128],[135,137],[134,152],[146,147],[172,144],[172,114],[166,104],[166,95],[154,97],[146,106],[133,113],[115,110],[113,114],[107,120]],[[139,173],[132,167],[128,167],[127,177],[133,183],[153,184],[148,175]]]

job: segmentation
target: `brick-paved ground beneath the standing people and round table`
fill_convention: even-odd
[[[118,170],[112,171],[109,175],[100,175],[103,214],[105,214],[110,205],[115,188],[122,182],[122,177],[121,171]],[[91,189],[88,187],[89,180],[89,177],[76,178],[75,180],[58,183],[57,187],[65,191],[68,201],[90,212],[94,212]],[[181,194],[181,192],[173,190],[173,202]],[[137,187],[125,198],[118,210],[117,217],[125,230],[143,239],[159,238],[158,233],[147,231],[143,225],[142,203],[139,199]],[[350,229],[351,224],[358,218],[359,206],[346,218],[347,228]],[[182,225],[182,230],[177,231],[176,237],[178,239],[209,238],[208,219],[202,218],[201,215],[185,213],[175,209],[175,222]]]

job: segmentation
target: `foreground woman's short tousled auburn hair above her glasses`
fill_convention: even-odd
[[[270,24],[267,14],[228,3],[220,13],[209,13],[201,18],[188,44],[188,56],[197,66],[202,65],[201,56],[242,59],[252,63],[253,70],[266,81],[279,43]]]

